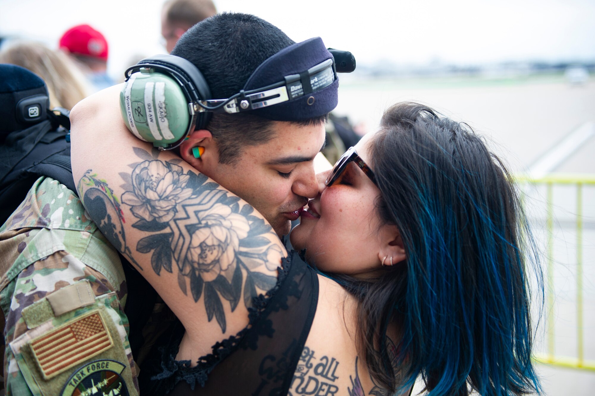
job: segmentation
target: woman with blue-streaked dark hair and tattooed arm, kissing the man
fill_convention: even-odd
[[[286,253],[248,203],[172,153],[151,159],[117,108],[90,108],[73,112],[80,196],[180,320],[143,394],[378,396],[418,378],[432,396],[540,392],[534,244],[511,175],[467,125],[389,108],[318,175]],[[77,132],[98,127],[101,141]]]

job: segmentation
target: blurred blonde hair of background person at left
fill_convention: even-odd
[[[0,52],[0,63],[24,67],[45,81],[50,108],[72,109],[87,95],[88,83],[71,59],[35,42],[18,42]]]

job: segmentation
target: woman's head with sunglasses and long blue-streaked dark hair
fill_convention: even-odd
[[[395,391],[421,376],[430,395],[538,391],[527,284],[537,256],[502,161],[468,125],[416,103],[389,108],[346,156],[309,204],[320,217],[291,240],[358,301],[358,353],[374,382]],[[364,199],[375,216],[356,225],[346,207]],[[366,261],[358,245],[386,227],[397,253]],[[390,339],[393,360],[378,347]]]

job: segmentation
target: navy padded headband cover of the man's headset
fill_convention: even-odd
[[[327,59],[333,59],[320,37],[295,43],[271,56],[252,73],[244,90],[258,89],[283,81],[285,76],[300,74]],[[250,111],[274,121],[304,121],[328,114],[337,106],[339,80],[308,95],[287,102]],[[311,97],[314,97],[312,100]]]

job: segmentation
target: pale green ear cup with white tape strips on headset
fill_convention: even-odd
[[[165,149],[186,137],[190,114],[179,84],[165,74],[143,68],[120,92],[127,127],[141,140]]]

